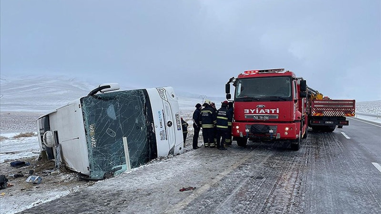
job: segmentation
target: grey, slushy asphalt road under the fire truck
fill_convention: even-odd
[[[287,147],[191,150],[22,213],[381,213],[380,124],[350,119]]]

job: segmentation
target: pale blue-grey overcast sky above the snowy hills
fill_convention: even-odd
[[[1,75],[224,96],[284,67],[333,99],[381,99],[379,0],[1,0]]]

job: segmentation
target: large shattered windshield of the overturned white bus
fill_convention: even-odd
[[[96,94],[81,99],[90,178],[103,179],[157,158],[152,110],[145,89]]]

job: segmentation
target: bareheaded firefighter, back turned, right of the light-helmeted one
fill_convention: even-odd
[[[216,113],[217,148],[219,150],[226,150],[224,142],[228,132],[228,121],[231,120],[231,113],[227,109],[227,103],[227,101],[222,102],[221,108]]]

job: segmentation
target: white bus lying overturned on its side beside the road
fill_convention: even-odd
[[[182,153],[173,88],[114,91],[118,89],[117,83],[100,85],[88,96],[38,118],[41,152],[95,180]]]

